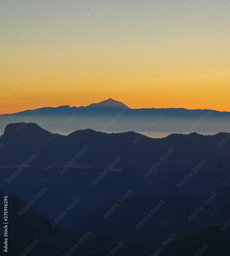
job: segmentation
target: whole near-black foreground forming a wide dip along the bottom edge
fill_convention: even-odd
[[[0,218],[3,219],[4,193],[0,191]],[[90,234],[88,238],[84,233],[79,233],[60,227],[51,226],[51,221],[32,207],[26,217],[19,216],[18,212],[25,206],[25,202],[11,195],[8,196],[8,254],[33,256],[56,255],[84,255],[101,256],[147,256],[147,255],[209,255],[227,256],[230,244],[230,229],[227,225],[216,225],[200,231],[189,237],[178,238],[177,234],[170,233],[163,240],[149,241],[146,243],[127,246],[123,241],[111,243],[109,237],[96,238]],[[91,233],[90,231],[88,233]],[[1,243],[3,232],[1,229]],[[120,248],[117,247],[119,245]],[[195,254],[195,253],[200,254]],[[4,255],[1,247],[1,255]]]

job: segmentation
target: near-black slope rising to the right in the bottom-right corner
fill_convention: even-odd
[[[174,235],[177,235],[175,232],[172,232],[161,241],[136,244],[134,246],[124,248],[124,250],[120,251],[120,253],[118,251],[118,255],[227,256],[229,255],[230,250],[230,229],[228,228],[222,233],[221,228],[223,227],[223,225],[215,225],[191,236],[179,239],[176,237],[171,240]],[[167,239],[169,240],[167,241]],[[159,250],[159,248],[161,249]]]

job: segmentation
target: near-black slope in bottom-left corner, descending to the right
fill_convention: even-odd
[[[0,217],[3,220],[4,194],[0,191]],[[10,195],[8,200],[8,255],[26,255],[30,253],[33,256],[56,256],[66,255],[65,252],[72,249],[72,255],[91,255],[91,251],[97,252],[100,246],[106,247],[105,243],[110,243],[108,237],[101,239],[95,238],[90,234],[84,243],[77,242],[85,234],[70,230],[59,225],[52,227],[51,220],[39,214],[31,205],[28,207],[25,202]],[[24,208],[28,208],[26,213],[19,215]],[[2,225],[1,225],[2,228]],[[3,244],[2,230],[0,234],[1,243]],[[99,246],[100,244],[100,246]],[[29,249],[27,248],[29,247]],[[32,249],[31,249],[32,248]],[[109,249],[109,247],[108,247]],[[24,254],[23,254],[24,253]],[[100,253],[103,253],[102,251]],[[95,255],[100,255],[95,253]],[[104,252],[106,253],[106,252]],[[4,255],[3,246],[1,246],[1,255]]]

